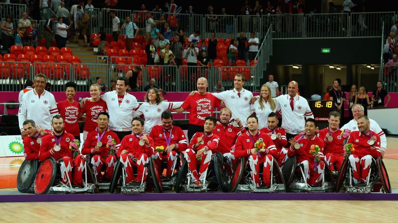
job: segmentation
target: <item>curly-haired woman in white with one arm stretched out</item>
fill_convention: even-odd
[[[180,108],[182,104],[182,102],[166,102],[159,89],[150,88],[145,94],[145,102],[134,111],[133,117],[144,115],[144,133],[149,135],[153,126],[162,124],[163,111]]]

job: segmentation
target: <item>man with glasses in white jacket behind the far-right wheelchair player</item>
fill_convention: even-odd
[[[354,115],[354,119],[352,119],[343,127],[341,127],[342,131],[344,131],[345,129],[349,129],[351,132],[359,131],[357,119],[359,116],[365,114],[364,107],[360,104],[356,104],[352,107],[351,110],[352,114]],[[376,132],[380,136],[380,152],[382,153],[382,157],[384,157],[384,153],[386,152],[387,149],[386,134],[384,134],[384,131],[382,130],[382,128],[380,128],[379,124],[375,120],[369,118],[369,121],[370,121],[370,130]]]

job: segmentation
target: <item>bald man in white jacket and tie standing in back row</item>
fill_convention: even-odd
[[[286,131],[286,138],[304,134],[305,118],[314,118],[308,102],[299,96],[298,83],[289,82],[288,94],[276,98],[277,111],[282,112],[282,128]],[[287,147],[289,147],[289,143]]]

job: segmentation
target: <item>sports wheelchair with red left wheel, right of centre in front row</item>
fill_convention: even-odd
[[[262,180],[262,169],[264,164],[260,164],[259,177]],[[276,159],[272,159],[271,163],[271,182],[269,188],[257,188],[251,179],[251,169],[248,161],[240,158],[235,165],[233,175],[230,181],[229,192],[254,192],[254,193],[273,193],[286,192],[285,180]]]

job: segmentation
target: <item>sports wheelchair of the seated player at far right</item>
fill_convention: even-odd
[[[369,170],[369,180],[367,183],[353,183],[353,170],[348,157],[344,159],[340,167],[336,181],[336,192],[349,193],[370,193],[370,192],[391,193],[391,184],[386,166],[381,158],[372,158]]]

